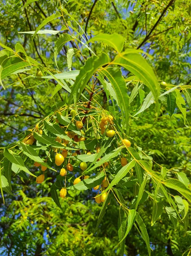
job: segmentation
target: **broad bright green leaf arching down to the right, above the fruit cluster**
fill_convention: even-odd
[[[125,52],[117,55],[112,63],[121,65],[133,73],[133,75],[137,76],[150,89],[154,98],[157,100],[159,96],[159,85],[156,76],[150,65],[139,52],[136,49],[127,49]]]

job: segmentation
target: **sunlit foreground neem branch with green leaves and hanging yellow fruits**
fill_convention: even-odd
[[[46,113],[33,127],[29,127],[22,139],[4,149],[0,162],[2,196],[3,190],[11,193],[12,172],[21,177],[26,177],[25,173],[35,177],[27,168],[29,159],[35,162],[36,168],[41,168],[41,175],[36,178],[37,183],[44,181],[47,168],[52,172],[57,172],[60,168],[60,173],[51,186],[51,195],[58,207],[61,207],[60,200],[65,200],[59,199],[58,190],[61,198],[65,198],[73,197],[76,191],[90,191],[93,188],[97,191],[96,203],[103,203],[98,228],[110,199],[114,198],[119,205],[121,255],[124,253],[125,238],[133,226],[145,240],[150,255],[149,236],[138,206],[146,201],[152,202],[151,225],[164,209],[174,227],[180,221],[187,230],[191,190],[184,172],[168,170],[157,163],[158,170],[153,170],[152,158],[130,137],[130,126],[135,117],[154,102],[155,122],[158,122],[160,107],[167,105],[169,116],[173,115],[177,106],[186,124],[186,109],[191,105],[191,91],[187,85],[174,86],[164,81],[158,82],[152,68],[142,57],[142,51],[123,51],[125,39],[119,34],[100,34],[91,38],[91,42],[110,45],[115,52],[115,56],[107,53],[96,55],[88,44],[83,29],[79,24],[79,30],[72,25],[76,21],[64,8],[47,17],[36,31],[31,32],[32,40],[37,33],[58,33],[41,29],[52,20],[63,18],[65,21],[66,17],[68,21],[59,31],[64,33],[55,42],[54,56],[58,67],[58,54],[68,44],[68,72],[60,73],[39,64],[27,56],[19,43],[15,45],[15,50],[0,44],[4,48],[0,52],[2,86],[2,80],[7,76],[27,69],[33,79],[38,79],[49,87],[52,96],[61,88],[68,93],[66,102],[55,102],[52,111]],[[86,59],[83,50],[88,50],[91,57]],[[85,62],[80,70],[72,70],[74,55]],[[134,76],[124,78],[127,70]],[[57,82],[54,91],[49,86],[51,79]],[[127,89],[131,82],[136,82],[136,86],[129,95]],[[143,89],[146,87],[149,93],[143,101]],[[97,100],[103,91],[107,96],[107,109]],[[133,113],[130,105],[136,96],[142,99],[140,102],[143,104],[137,113]],[[171,178],[168,178],[167,172],[171,173]],[[138,192],[131,204],[127,205],[124,197],[130,184],[136,184]],[[147,184],[154,188],[154,192],[146,189]]]

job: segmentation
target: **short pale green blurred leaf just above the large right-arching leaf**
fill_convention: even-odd
[[[99,35],[95,35],[93,38],[89,40],[89,42],[92,42],[92,41],[104,42],[106,44],[109,44],[117,52],[121,52],[123,49],[125,38],[122,37],[122,35],[119,35],[117,33],[114,33],[112,35],[99,34]]]

